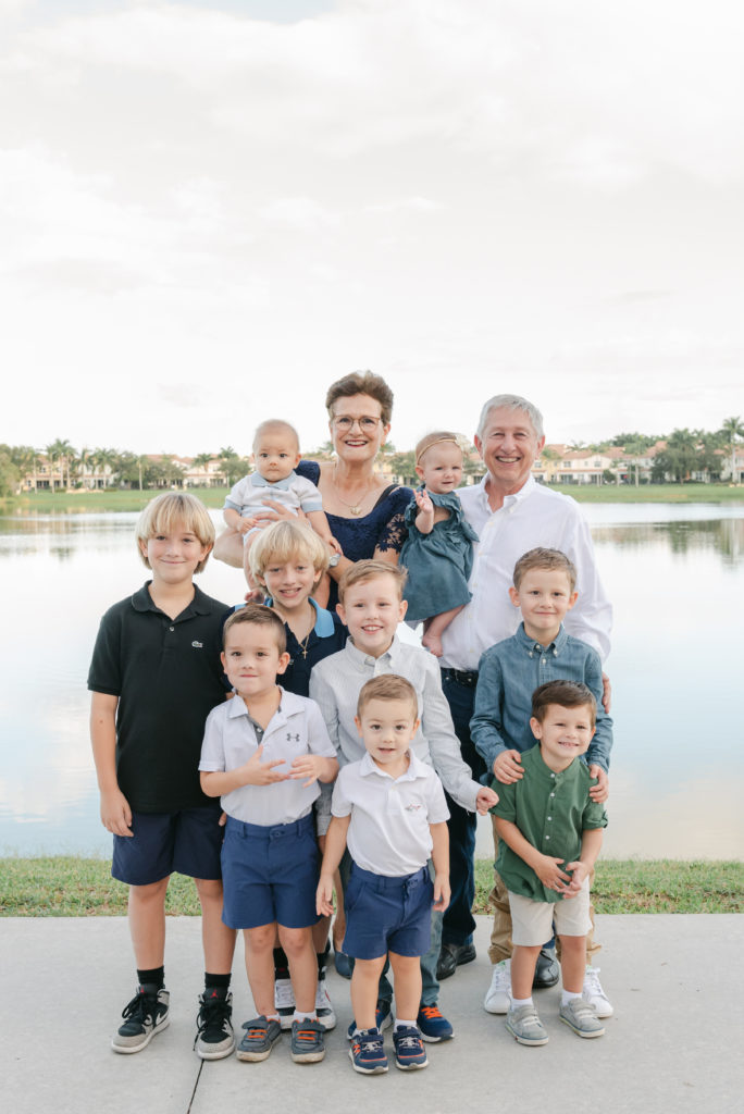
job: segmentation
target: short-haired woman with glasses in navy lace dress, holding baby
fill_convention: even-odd
[[[405,538],[403,515],[412,491],[394,483],[385,486],[374,471],[375,458],[390,432],[393,407],[393,393],[382,377],[370,371],[344,375],[331,384],[325,405],[336,460],[321,465],[303,460],[297,472],[312,480],[323,496],[323,510],[343,554],[330,570],[337,582],[350,564],[366,557],[398,563]],[[267,519],[290,514],[266,500]],[[233,530],[223,534],[215,557],[241,566],[241,537]],[[330,607],[336,598],[333,584]]]

